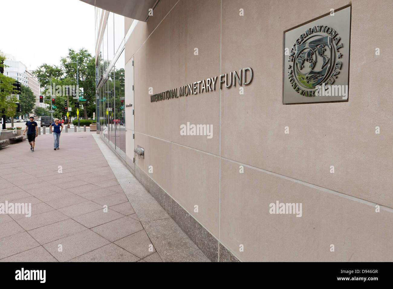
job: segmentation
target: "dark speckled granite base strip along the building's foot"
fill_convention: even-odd
[[[134,171],[101,134],[100,137],[209,260],[213,262],[239,262],[235,255],[226,249],[191,214],[184,210],[149,175],[137,165]]]

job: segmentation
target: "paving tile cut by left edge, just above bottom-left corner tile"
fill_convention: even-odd
[[[38,247],[40,244],[27,232],[0,239],[0,259]]]

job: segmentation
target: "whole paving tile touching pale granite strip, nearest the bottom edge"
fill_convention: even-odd
[[[154,247],[149,246],[152,245],[152,243],[145,230],[141,230],[130,236],[124,237],[123,239],[120,239],[114,243],[129,251],[130,253],[138,256],[139,258],[145,258],[153,252],[156,252]],[[153,251],[149,251],[149,248],[152,248],[151,250]]]

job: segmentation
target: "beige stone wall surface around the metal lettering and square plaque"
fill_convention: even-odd
[[[282,104],[283,31],[347,4],[161,0],[126,43],[135,146],[145,148],[136,165],[242,261],[393,261],[393,2],[352,1],[348,102]],[[150,102],[149,87],[247,66],[244,95]],[[181,136],[187,122],[212,124],[213,138]],[[277,200],[302,203],[302,217],[269,214]]]

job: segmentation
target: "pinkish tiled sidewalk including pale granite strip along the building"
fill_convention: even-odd
[[[31,203],[31,217],[0,214],[0,261],[208,261],[121,166],[89,132],[1,149],[0,203]]]

